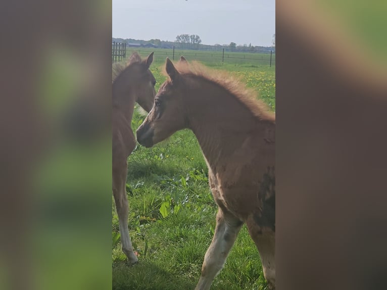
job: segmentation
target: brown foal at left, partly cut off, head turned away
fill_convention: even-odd
[[[133,53],[126,66],[113,67],[113,196],[119,220],[122,251],[129,263],[138,261],[133,252],[128,230],[128,200],[126,197],[127,158],[136,146],[131,129],[134,103],[149,112],[156,94],[156,79],[149,70],[153,53],[141,60]]]

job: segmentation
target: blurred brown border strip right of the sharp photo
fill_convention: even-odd
[[[276,286],[384,289],[387,4],[276,1]]]

